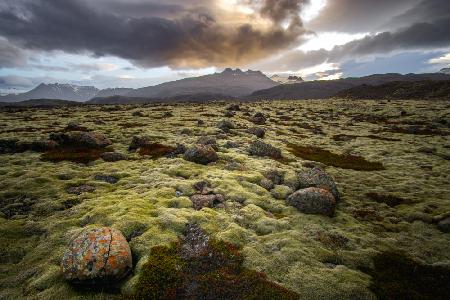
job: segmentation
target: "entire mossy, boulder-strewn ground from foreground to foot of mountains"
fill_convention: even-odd
[[[447,299],[449,136],[439,100],[3,107],[0,299]]]

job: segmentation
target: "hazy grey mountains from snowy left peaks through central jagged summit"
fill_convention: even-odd
[[[221,73],[191,77],[162,83],[139,89],[115,88],[99,90],[92,86],[76,86],[71,84],[40,84],[35,89],[18,95],[0,97],[3,102],[18,102],[30,99],[61,99],[86,102],[93,98],[125,96],[136,98],[192,98],[203,95],[211,97],[243,97],[254,91],[267,89],[279,83],[271,80],[260,71],[246,72],[240,69],[225,69]],[[98,100],[98,99],[97,99]]]

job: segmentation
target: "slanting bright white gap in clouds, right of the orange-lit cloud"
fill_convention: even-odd
[[[310,39],[304,44],[298,47],[298,50],[311,51],[311,50],[331,50],[334,46],[344,45],[353,40],[361,39],[365,36],[365,33],[341,33],[341,32],[322,32],[316,35],[310,35]]]

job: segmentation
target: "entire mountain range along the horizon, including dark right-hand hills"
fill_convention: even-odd
[[[275,80],[273,80],[275,79]],[[21,102],[34,99],[59,99],[87,104],[131,104],[152,102],[183,102],[212,100],[295,100],[334,97],[360,86],[380,86],[390,82],[417,82],[450,80],[446,72],[427,74],[375,74],[337,80],[303,81],[300,77],[267,77],[260,71],[225,69],[221,73],[185,78],[139,89],[115,88],[99,90],[93,86],[70,84],[40,84],[35,89],[18,95],[0,97],[0,102]],[[401,85],[397,85],[401,86]],[[418,85],[415,85],[417,87]],[[380,88],[388,91],[391,87]],[[356,92],[358,91],[358,92]],[[364,93],[368,88],[353,90]],[[373,89],[370,94],[378,94]],[[343,94],[341,94],[343,95]],[[36,103],[37,100],[28,102]],[[53,102],[52,102],[53,103]],[[58,102],[60,103],[60,102]]]

